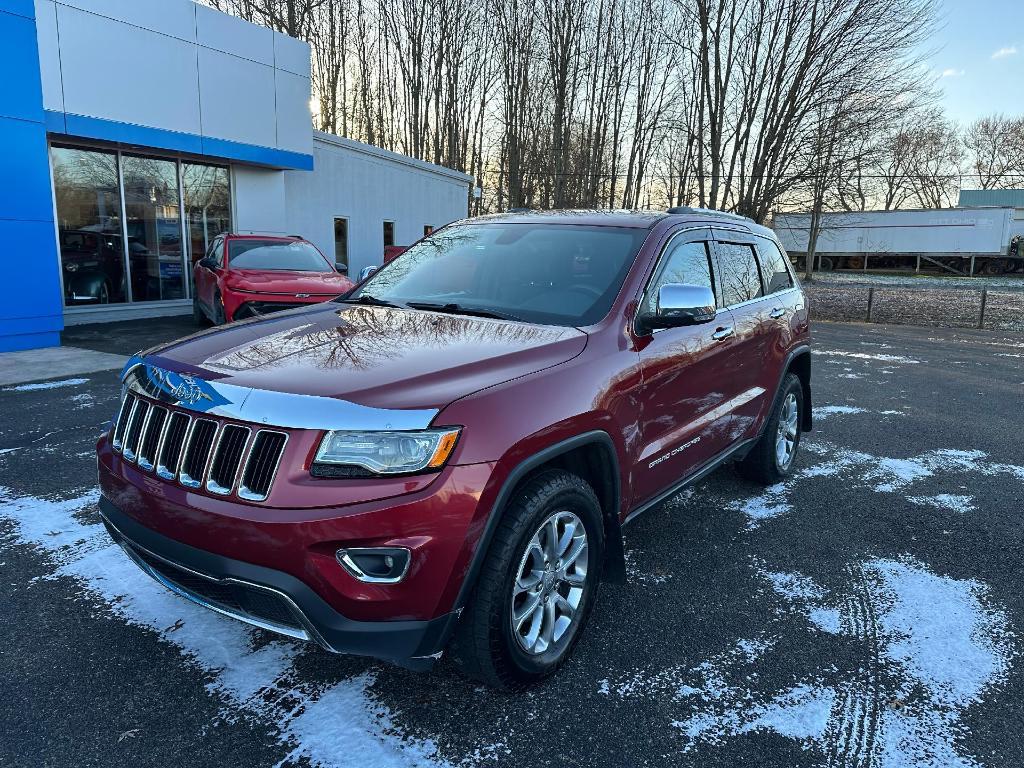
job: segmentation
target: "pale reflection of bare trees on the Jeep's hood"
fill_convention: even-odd
[[[330,324],[330,325],[328,325]],[[414,350],[443,354],[454,346],[527,346],[574,335],[571,329],[530,326],[439,312],[352,306],[318,323],[270,334],[207,360],[218,369],[284,368],[293,358],[324,370],[369,371]]]

